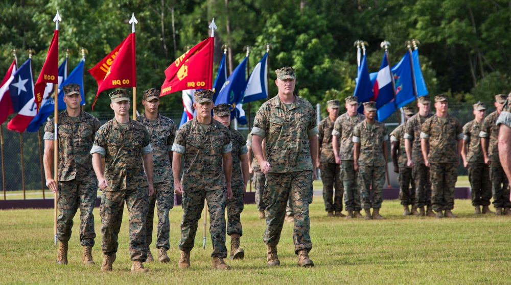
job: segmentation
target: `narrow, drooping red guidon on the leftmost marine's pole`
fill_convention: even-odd
[[[46,61],[34,85],[34,101],[37,104],[37,112],[41,107],[42,96],[47,83],[59,84],[59,30],[55,30],[53,34]]]

